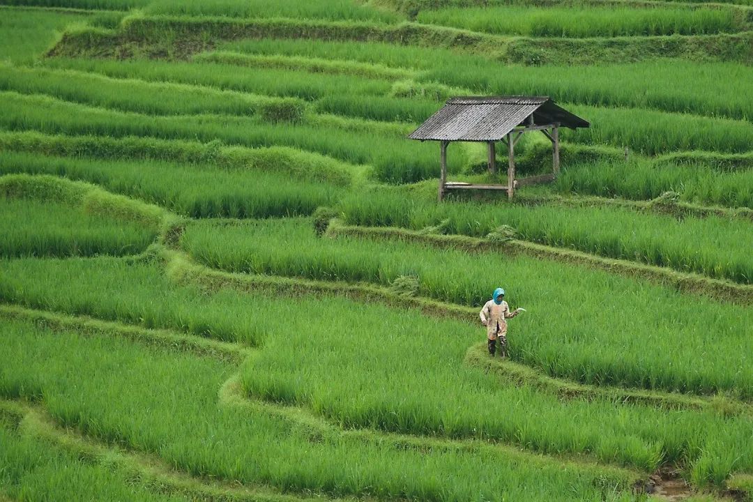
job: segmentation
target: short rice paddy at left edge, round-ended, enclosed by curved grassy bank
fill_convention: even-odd
[[[0,234],[3,257],[119,256],[144,251],[157,236],[157,229],[87,214],[82,208],[58,202],[0,195]]]

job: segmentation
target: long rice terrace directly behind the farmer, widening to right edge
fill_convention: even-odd
[[[744,335],[750,309],[705,299],[695,299],[691,306],[687,297],[667,288],[533,257],[469,256],[452,248],[347,236],[320,239],[305,220],[191,224],[181,245],[200,263],[230,272],[384,286],[413,278],[413,294],[476,306],[500,284],[500,278],[489,276],[489,269],[498,269],[508,301],[539,312],[511,321],[522,324],[520,338],[511,342],[514,359],[553,376],[597,385],[731,391],[751,397],[745,389],[753,383],[753,373],[745,369],[745,357],[739,359],[753,350]],[[462,274],[448,275],[448,269]],[[537,280],[541,276],[547,277],[546,284]],[[687,309],[701,309],[706,316],[690,320]],[[724,336],[712,340],[709,332]]]

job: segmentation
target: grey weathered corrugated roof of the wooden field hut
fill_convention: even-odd
[[[413,131],[408,137],[434,141],[500,141],[515,126],[559,123],[576,129],[590,124],[555,105],[549,96],[457,97]]]

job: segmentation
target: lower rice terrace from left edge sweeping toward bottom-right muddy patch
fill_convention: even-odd
[[[62,424],[99,440],[158,452],[189,473],[335,496],[466,500],[481,490],[489,497],[514,494],[517,500],[601,500],[611,491],[616,500],[634,499],[627,493],[632,479],[620,471],[509,455],[474,444],[414,449],[370,434],[320,435],[249,408],[218,408],[217,389],[229,369],[225,364],[152,351],[122,339],[51,333],[14,322],[4,326],[10,343],[3,354],[10,366],[0,370],[4,394],[29,394],[32,388],[23,386],[33,382],[33,388],[44,391],[44,406]],[[27,351],[35,354],[28,361]],[[69,364],[80,370],[68,371]],[[94,385],[94,375],[105,376],[108,387]],[[509,475],[483,476],[478,466],[486,462],[504,466]],[[352,467],[343,470],[344,464]],[[312,465],[318,466],[316,471]],[[443,476],[429,482],[419,472]],[[568,494],[562,494],[565,485]]]

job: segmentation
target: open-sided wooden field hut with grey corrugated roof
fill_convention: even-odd
[[[440,141],[441,175],[439,200],[448,190],[504,190],[512,197],[517,187],[552,181],[559,172],[559,127],[588,127],[590,124],[555,105],[548,96],[458,97],[413,131],[408,137],[419,141]],[[515,178],[515,144],[523,132],[541,131],[552,141],[553,172],[529,178]],[[495,143],[508,146],[508,184],[447,182],[447,145],[450,141],[484,141],[489,144],[489,172],[496,172]]]

